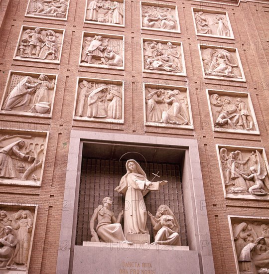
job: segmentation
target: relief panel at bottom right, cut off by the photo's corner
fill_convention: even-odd
[[[238,274],[269,272],[269,218],[228,216]]]

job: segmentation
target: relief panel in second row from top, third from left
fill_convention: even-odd
[[[186,76],[181,42],[142,39],[143,71]]]

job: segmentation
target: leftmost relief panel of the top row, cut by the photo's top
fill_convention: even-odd
[[[29,0],[25,16],[66,20],[69,0]]]

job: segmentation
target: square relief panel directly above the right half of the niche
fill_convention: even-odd
[[[146,126],[193,129],[188,88],[144,84]]]

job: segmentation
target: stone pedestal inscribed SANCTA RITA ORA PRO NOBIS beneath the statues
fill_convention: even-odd
[[[200,274],[189,247],[90,243],[75,246],[72,274]]]

